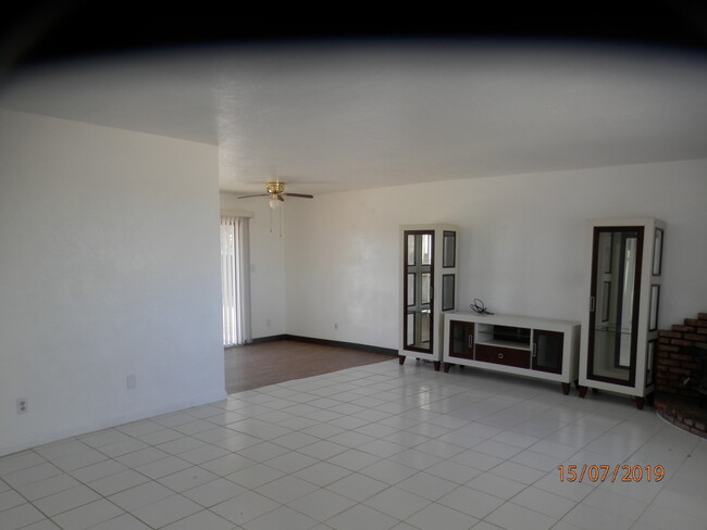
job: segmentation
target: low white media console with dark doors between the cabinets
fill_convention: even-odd
[[[459,365],[546,379],[565,394],[578,380],[579,323],[450,311],[444,337],[444,371]]]

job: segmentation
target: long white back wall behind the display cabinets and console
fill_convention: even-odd
[[[397,349],[398,227],[460,227],[458,307],[580,320],[586,219],[667,223],[659,319],[707,311],[707,160],[452,180],[288,203],[287,332]],[[338,330],[334,329],[338,324]]]

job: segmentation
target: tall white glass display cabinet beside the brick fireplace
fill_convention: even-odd
[[[628,394],[643,408],[653,392],[665,223],[591,220],[592,262],[582,321],[580,396],[588,388]]]

